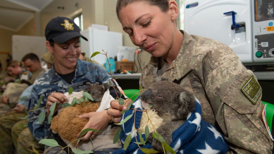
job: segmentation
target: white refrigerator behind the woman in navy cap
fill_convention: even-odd
[[[88,57],[96,51],[103,53],[102,50],[104,50],[107,52],[108,58],[114,58],[117,56],[118,46],[123,46],[122,33],[88,27],[81,34],[88,39],[88,41],[81,39],[81,51],[86,53]],[[91,59],[100,64],[106,63],[106,56],[102,54],[98,54]]]

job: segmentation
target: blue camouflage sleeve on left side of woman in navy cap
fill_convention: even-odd
[[[39,96],[35,91],[35,88],[31,91],[31,98],[29,101],[29,113],[28,113],[28,128],[36,140],[41,140],[43,138],[48,138],[51,135],[50,124],[45,119],[41,124],[39,122],[39,114],[41,112],[46,113],[46,109],[43,108],[46,106],[45,99],[41,101],[41,104],[38,108],[34,107],[38,104]]]

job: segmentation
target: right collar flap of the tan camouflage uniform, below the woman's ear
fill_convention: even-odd
[[[190,72],[193,68],[191,66],[193,40],[192,37],[183,30],[180,30],[184,34],[184,41],[181,49],[177,55],[174,65],[176,79],[179,80]]]

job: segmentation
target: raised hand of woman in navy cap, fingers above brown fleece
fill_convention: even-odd
[[[46,103],[47,112],[46,112],[46,118],[49,117],[50,113],[50,107],[54,102],[56,102],[56,106],[54,109],[54,113],[60,108],[58,104],[63,104],[64,101],[66,101],[68,98],[63,93],[51,93],[50,96],[48,96],[48,100]]]

